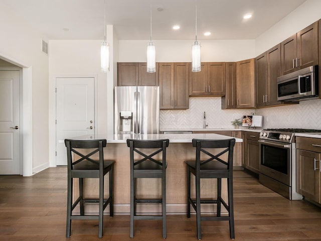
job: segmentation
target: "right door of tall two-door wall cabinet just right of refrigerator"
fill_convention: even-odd
[[[174,63],[174,108],[189,108],[189,63]]]

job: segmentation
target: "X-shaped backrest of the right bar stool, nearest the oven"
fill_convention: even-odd
[[[235,139],[227,140],[202,140],[202,139],[193,139],[193,147],[196,147],[196,166],[199,168],[201,165],[204,165],[211,161],[219,161],[227,165],[228,170],[233,170],[233,149],[235,145]],[[218,154],[213,154],[210,149],[223,149]],[[205,150],[207,149],[207,150]],[[206,160],[201,160],[201,152],[206,154]],[[221,156],[228,152],[227,161],[224,161]],[[203,158],[202,158],[203,159]]]

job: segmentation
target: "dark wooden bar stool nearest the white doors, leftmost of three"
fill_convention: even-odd
[[[70,237],[71,220],[98,219],[98,237],[103,232],[103,211],[109,204],[109,215],[113,216],[113,160],[104,160],[103,148],[106,140],[65,140],[68,161],[68,193],[67,193],[67,225],[66,237]],[[80,153],[78,149],[88,150],[89,154]],[[86,152],[86,153],[87,153]],[[98,152],[99,159],[93,155]],[[104,176],[109,172],[109,198],[104,199]],[[79,197],[73,203],[73,178],[79,179]],[[84,178],[99,178],[99,198],[85,199],[83,192]],[[80,215],[73,214],[73,209],[79,203]],[[85,215],[84,204],[98,203],[98,215]]]

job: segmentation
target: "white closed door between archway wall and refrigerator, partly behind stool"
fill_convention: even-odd
[[[94,78],[56,79],[56,165],[67,165],[64,140],[95,133]]]

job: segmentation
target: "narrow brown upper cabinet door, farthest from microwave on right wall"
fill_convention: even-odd
[[[267,62],[266,53],[263,53],[255,59],[255,81],[256,97],[255,106],[261,107],[266,105],[267,96]],[[275,90],[276,91],[276,90]]]

